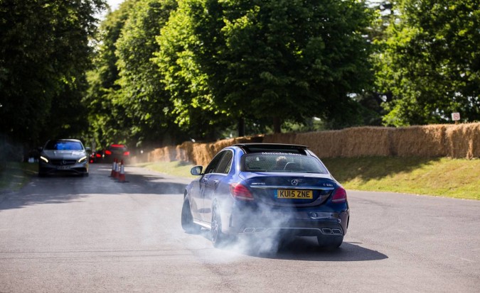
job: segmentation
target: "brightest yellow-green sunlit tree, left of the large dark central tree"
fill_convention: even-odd
[[[196,53],[203,44],[193,31],[192,1],[178,1],[169,22],[157,38],[159,52],[153,62],[171,96],[171,114],[181,130],[196,140],[214,139],[217,129],[228,125],[224,111],[213,101],[208,74],[198,64]]]

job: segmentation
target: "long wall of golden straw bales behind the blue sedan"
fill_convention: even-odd
[[[480,157],[480,123],[403,128],[355,127],[341,131],[274,133],[229,138],[215,143],[185,142],[148,154],[151,161],[183,160],[207,165],[221,149],[235,143],[292,143],[307,145],[319,157]]]

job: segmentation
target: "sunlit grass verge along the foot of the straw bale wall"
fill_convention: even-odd
[[[447,157],[356,157],[323,159],[346,189],[426,194],[480,200],[480,160]],[[139,164],[157,172],[194,178],[186,162]]]

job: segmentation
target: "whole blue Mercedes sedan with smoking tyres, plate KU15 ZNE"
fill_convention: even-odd
[[[218,247],[233,236],[311,236],[338,248],[348,228],[346,191],[308,147],[235,144],[220,150],[187,185],[181,224],[211,232]]]

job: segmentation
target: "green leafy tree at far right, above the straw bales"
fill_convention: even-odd
[[[405,0],[378,54],[377,84],[392,94],[385,125],[480,119],[478,1]]]

